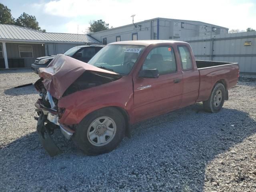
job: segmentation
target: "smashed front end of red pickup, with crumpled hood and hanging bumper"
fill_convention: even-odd
[[[122,76],[61,54],[46,68],[39,68],[38,73],[40,79],[34,84],[41,97],[35,103],[39,116],[35,117],[38,120],[37,132],[40,142],[53,157],[61,153],[51,137],[54,130],[60,128],[68,140],[75,132],[75,125],[64,125],[59,122],[65,108],[58,108],[58,100],[74,92],[118,80]]]

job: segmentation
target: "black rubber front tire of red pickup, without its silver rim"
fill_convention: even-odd
[[[94,120],[102,116],[109,117],[116,124],[116,133],[112,140],[104,146],[94,146],[88,139],[89,126]],[[73,140],[76,145],[87,155],[98,155],[114,150],[121,142],[125,132],[124,116],[114,107],[102,108],[88,114],[76,127]]]

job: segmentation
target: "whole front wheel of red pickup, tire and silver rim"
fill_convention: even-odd
[[[124,132],[124,116],[116,108],[102,108],[78,124],[74,141],[85,154],[102,154],[116,148]]]

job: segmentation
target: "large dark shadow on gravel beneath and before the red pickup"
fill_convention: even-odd
[[[127,191],[148,182],[152,188],[141,191],[203,191],[207,164],[255,134],[255,125],[246,112],[223,108],[210,114],[202,111],[201,104],[194,104],[133,125],[132,137],[124,138],[108,154],[85,156],[73,142],[56,136],[64,153],[54,158],[46,154],[33,132],[0,150],[0,180],[12,178],[16,181],[12,188],[33,190],[86,189],[95,182],[98,191],[117,186],[118,191]],[[105,185],[97,185],[98,180],[106,181]],[[11,184],[2,181],[0,191],[5,191]]]

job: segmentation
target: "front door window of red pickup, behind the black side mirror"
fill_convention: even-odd
[[[143,64],[143,70],[157,69],[159,75],[176,72],[174,52],[171,47],[157,47],[152,49]]]

